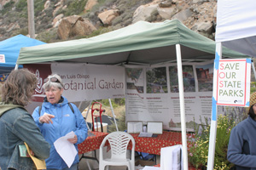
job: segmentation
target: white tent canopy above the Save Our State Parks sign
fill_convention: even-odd
[[[255,8],[255,0],[218,0],[216,42],[256,57]]]

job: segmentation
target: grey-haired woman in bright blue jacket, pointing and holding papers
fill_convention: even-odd
[[[79,155],[75,157],[73,165],[68,168],[55,150],[54,142],[73,131],[75,135],[68,141],[74,144],[78,150],[78,144],[82,143],[88,135],[84,117],[76,105],[68,103],[67,99],[61,95],[63,83],[60,76],[57,74],[50,75],[44,80],[43,88],[46,94],[44,103],[33,111],[32,116],[51,146],[49,158],[45,160],[46,167],[47,169],[77,170]]]

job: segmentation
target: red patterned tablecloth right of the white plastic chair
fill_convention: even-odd
[[[138,137],[138,133],[131,134],[135,139],[135,150],[154,155],[160,155],[160,150],[163,147],[182,144],[182,133],[163,132],[157,137]]]

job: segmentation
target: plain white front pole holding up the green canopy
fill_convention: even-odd
[[[180,44],[176,44],[176,57],[177,57],[177,78],[178,78],[178,94],[180,102],[180,115],[182,127],[182,142],[183,142],[183,170],[189,169],[188,164],[188,148],[187,148],[187,133],[186,133],[186,120],[185,120],[185,105],[184,105],[184,89],[183,89],[183,65],[181,59]]]

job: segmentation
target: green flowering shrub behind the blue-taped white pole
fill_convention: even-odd
[[[207,121],[206,121],[207,122]],[[230,140],[230,131],[236,126],[234,117],[218,116],[214,170],[229,170],[234,164],[227,160],[227,150]],[[200,132],[201,128],[201,133]],[[189,136],[189,162],[195,167],[207,166],[208,145],[210,137],[210,125],[197,127],[195,129],[195,138]]]

